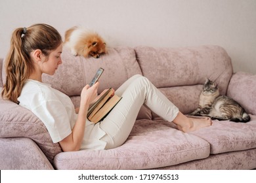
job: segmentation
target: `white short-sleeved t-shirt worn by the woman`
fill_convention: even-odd
[[[74,105],[70,97],[49,84],[28,79],[18,101],[20,106],[31,110],[45,124],[54,143],[72,133],[77,120]],[[81,149],[104,149],[106,142],[100,141],[104,135],[106,133],[99,124],[86,120]]]

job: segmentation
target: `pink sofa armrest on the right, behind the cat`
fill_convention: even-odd
[[[235,73],[230,79],[226,95],[240,103],[249,114],[256,115],[256,75]]]

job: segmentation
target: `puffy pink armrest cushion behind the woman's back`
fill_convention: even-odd
[[[1,88],[0,88],[1,91]],[[35,141],[50,162],[61,152],[39,118],[30,110],[0,97],[0,137],[28,137]]]

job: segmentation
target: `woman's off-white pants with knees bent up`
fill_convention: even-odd
[[[105,149],[121,146],[127,140],[143,104],[169,122],[172,122],[179,112],[179,108],[141,75],[129,78],[116,90],[116,95],[123,98],[100,123],[100,128],[106,132],[100,139],[107,142]]]

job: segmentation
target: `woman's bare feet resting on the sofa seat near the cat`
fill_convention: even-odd
[[[183,132],[196,131],[202,127],[207,127],[212,124],[210,118],[188,118],[186,125],[177,125],[178,129]]]

